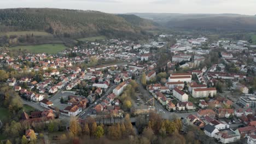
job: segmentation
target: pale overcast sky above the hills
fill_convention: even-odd
[[[0,0],[0,8],[65,8],[105,13],[256,14],[256,0]]]

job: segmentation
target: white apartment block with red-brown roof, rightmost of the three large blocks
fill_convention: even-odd
[[[215,87],[210,88],[195,88],[192,90],[192,97],[203,98],[203,97],[214,97],[217,91]]]

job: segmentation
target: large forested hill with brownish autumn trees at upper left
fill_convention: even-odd
[[[60,37],[82,38],[92,35],[129,37],[144,29],[155,28],[153,22],[129,15],[100,11],[50,8],[0,9],[0,32],[43,31]],[[139,18],[139,19],[138,19]]]

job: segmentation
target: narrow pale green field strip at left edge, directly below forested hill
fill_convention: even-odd
[[[38,31],[21,31],[21,32],[1,32],[0,33],[0,36],[2,35],[27,35],[27,34],[32,34],[34,36],[53,36],[53,34],[50,34],[50,33],[46,33],[46,32],[38,32]]]

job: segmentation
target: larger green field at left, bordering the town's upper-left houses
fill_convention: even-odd
[[[55,54],[65,50],[67,47],[63,44],[45,44],[45,45],[29,45],[29,46],[14,46],[10,50],[27,50],[32,53],[48,53]]]

